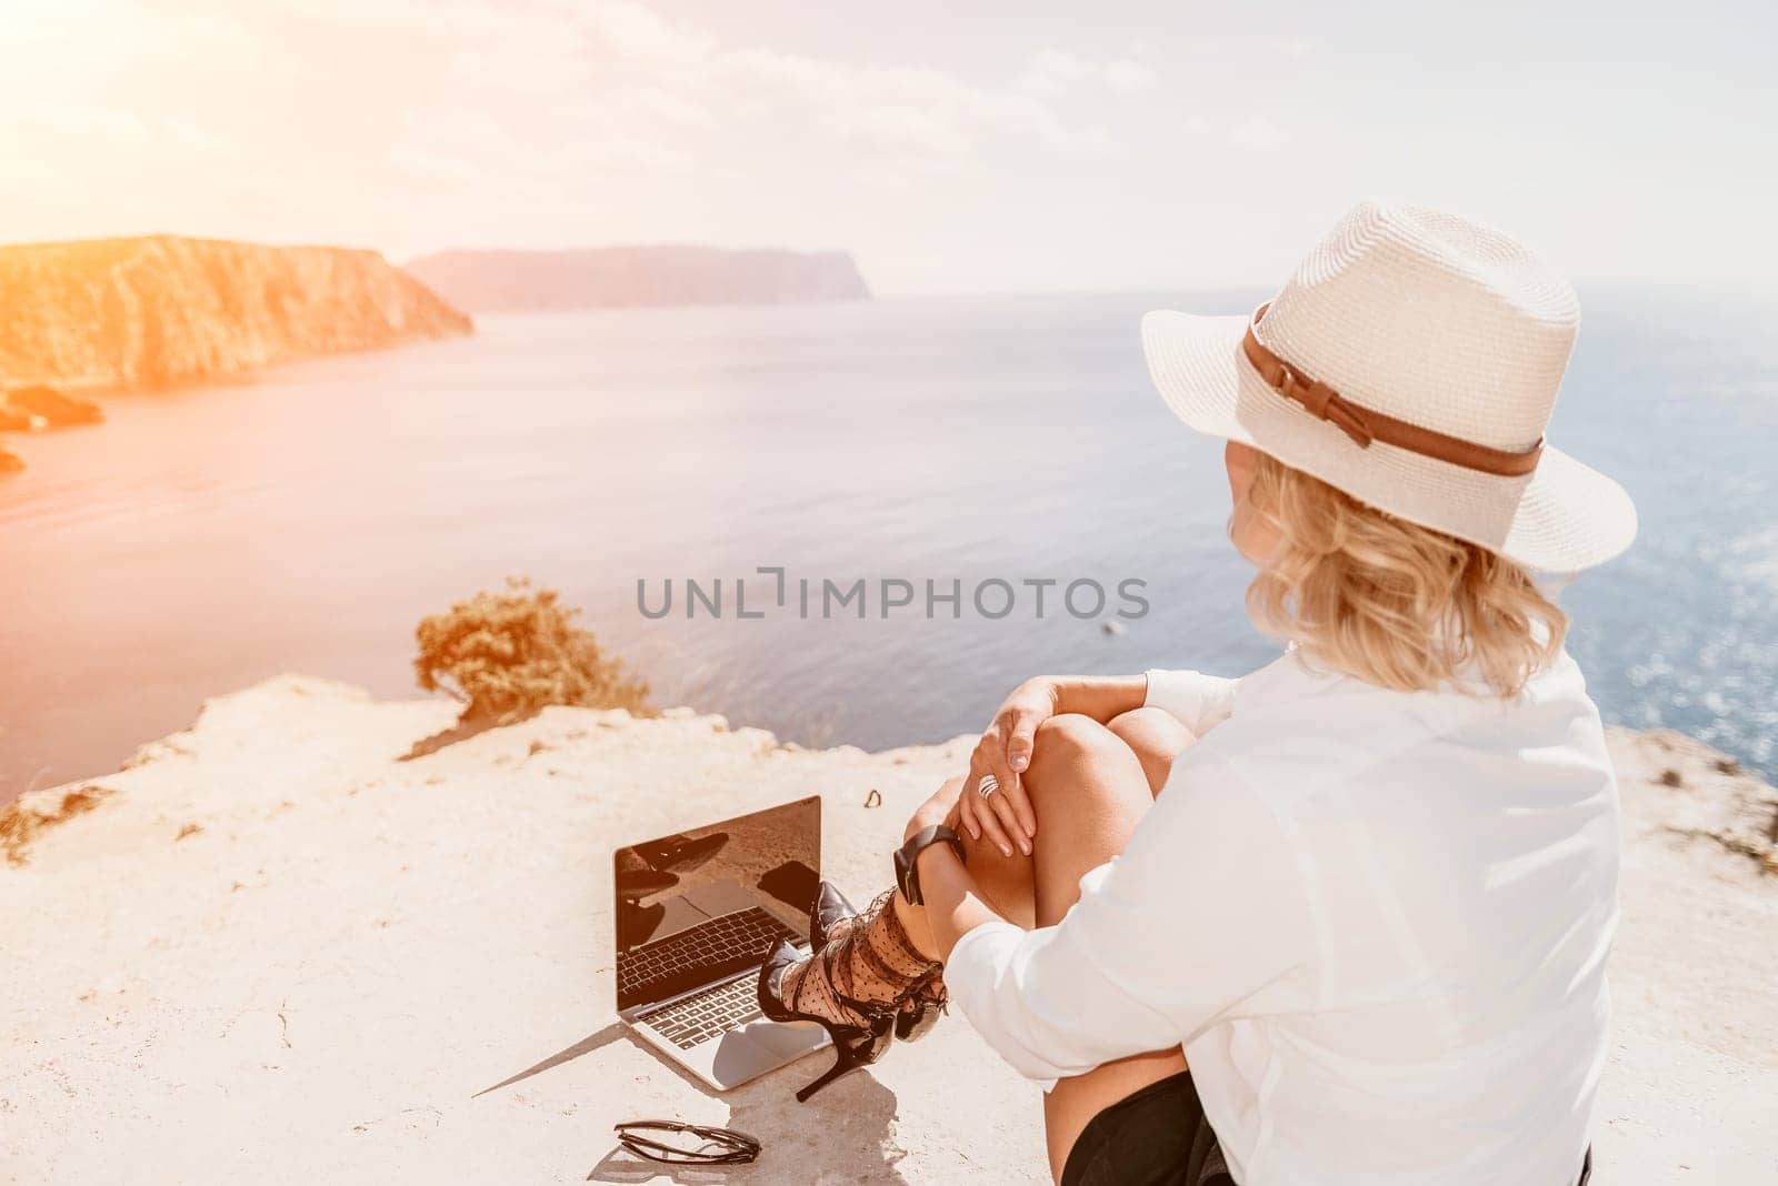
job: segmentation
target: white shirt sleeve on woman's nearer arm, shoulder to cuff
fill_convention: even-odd
[[[985,923],[951,950],[951,1000],[1044,1090],[1310,1000],[1316,932],[1293,849],[1252,788],[1189,756],[1058,925]]]

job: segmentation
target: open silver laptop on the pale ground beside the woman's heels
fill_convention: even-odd
[[[759,1012],[779,939],[809,950],[821,879],[821,799],[626,845],[612,854],[617,1016],[718,1092],[829,1044]]]

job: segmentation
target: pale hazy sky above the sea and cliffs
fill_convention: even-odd
[[[0,0],[0,240],[1179,289],[1282,281],[1380,197],[1577,277],[1764,281],[1774,46],[1769,0]]]

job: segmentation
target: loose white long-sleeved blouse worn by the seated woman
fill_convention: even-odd
[[[1618,882],[1574,660],[1508,703],[1293,652],[1147,703],[1200,740],[1058,925],[958,939],[957,1008],[1044,1090],[1184,1046],[1243,1186],[1570,1186]]]

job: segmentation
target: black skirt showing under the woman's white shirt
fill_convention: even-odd
[[[1061,1186],[1234,1186],[1191,1072],[1131,1092],[1086,1122]]]

